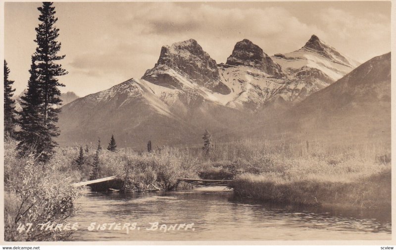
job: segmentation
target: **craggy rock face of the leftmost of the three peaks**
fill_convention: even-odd
[[[185,83],[180,77],[223,95],[231,91],[220,81],[216,61],[194,39],[163,46],[158,62],[142,79],[181,90]]]

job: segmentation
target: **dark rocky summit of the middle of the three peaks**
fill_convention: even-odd
[[[238,42],[232,54],[227,58],[226,64],[233,66],[249,66],[263,72],[282,77],[281,66],[274,62],[263,50],[247,39]]]

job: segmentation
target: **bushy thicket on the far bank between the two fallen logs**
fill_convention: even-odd
[[[92,155],[89,155],[87,162],[91,161]],[[99,153],[99,161],[99,178],[119,175],[125,179],[128,172],[125,188],[129,191],[191,187],[184,183],[179,185],[177,178],[197,177],[196,159],[174,148],[164,147],[143,154],[126,149],[103,150]]]

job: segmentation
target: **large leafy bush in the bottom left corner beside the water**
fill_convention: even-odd
[[[16,158],[7,145],[4,160],[4,239],[6,241],[60,241],[73,231],[41,230],[44,223],[61,224],[75,207],[78,190],[71,178],[49,165],[35,162],[33,156]],[[13,155],[13,156],[12,156]],[[31,229],[19,232],[18,226],[32,223]]]

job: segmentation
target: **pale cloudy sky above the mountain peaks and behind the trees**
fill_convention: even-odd
[[[4,57],[15,94],[27,86],[37,45],[41,2],[5,2]],[[334,2],[55,2],[62,93],[86,96],[130,78],[157,62],[161,47],[195,39],[226,62],[249,39],[265,53],[300,49],[311,35],[359,61],[391,50],[390,1]]]

